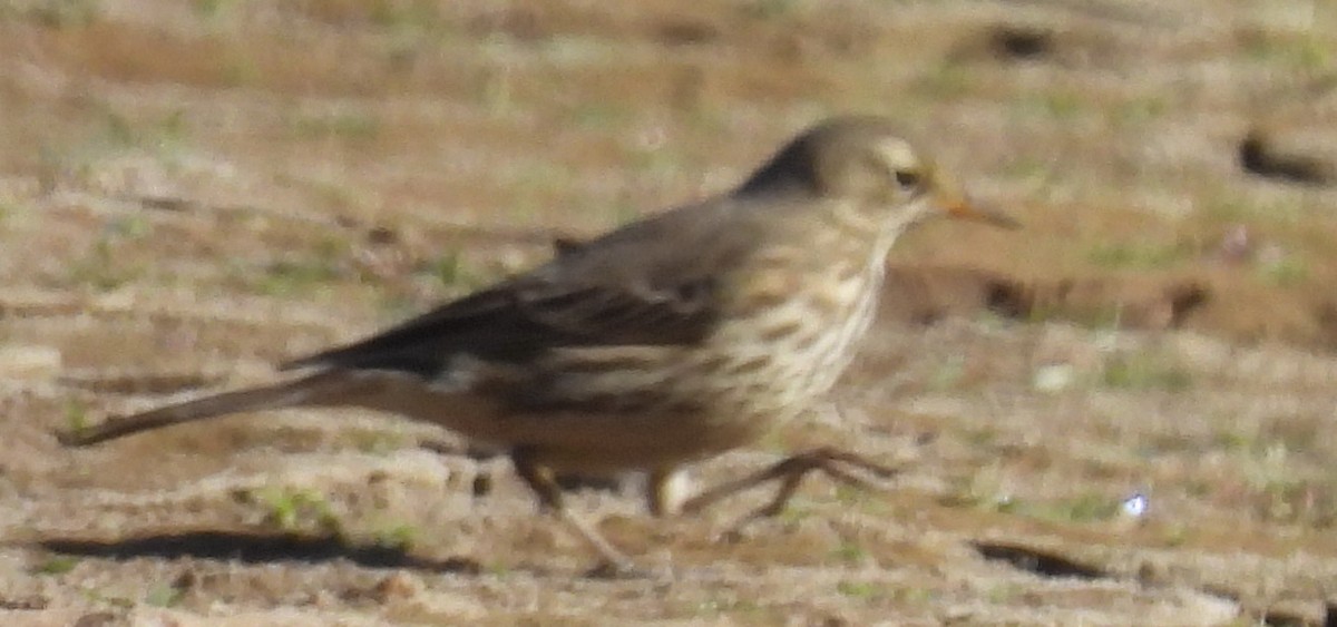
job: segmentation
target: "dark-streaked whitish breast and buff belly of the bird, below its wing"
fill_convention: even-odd
[[[509,386],[475,436],[531,447],[543,464],[576,472],[678,465],[746,447],[809,409],[849,365],[876,290],[849,293],[834,310],[793,301],[725,322],[694,346],[559,352]],[[816,316],[822,324],[810,324]]]

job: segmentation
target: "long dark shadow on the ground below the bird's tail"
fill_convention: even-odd
[[[36,545],[60,555],[128,560],[135,557],[197,557],[246,564],[318,564],[348,560],[368,568],[476,574],[481,566],[467,557],[432,559],[400,547],[350,544],[338,536],[187,531],[103,541],[48,537]]]

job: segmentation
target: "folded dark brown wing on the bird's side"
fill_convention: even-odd
[[[566,246],[528,274],[283,368],[432,376],[457,354],[520,362],[558,348],[701,341],[718,321],[719,277],[750,250],[753,235],[747,221],[729,233],[711,229],[719,218],[714,214],[746,210],[746,202],[722,198],[667,211]]]

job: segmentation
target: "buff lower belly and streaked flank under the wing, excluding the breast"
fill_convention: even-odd
[[[452,417],[457,430],[505,448],[528,447],[556,469],[660,468],[757,440],[770,416],[701,369],[697,349],[568,349],[496,389],[488,416]],[[512,373],[515,374],[515,373]]]

